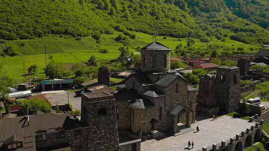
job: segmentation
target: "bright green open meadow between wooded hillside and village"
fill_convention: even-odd
[[[152,35],[134,32],[136,38],[130,40],[130,50],[135,51],[136,47],[143,47],[144,45],[153,41]],[[6,41],[6,44],[0,43],[0,47],[12,46],[20,52],[27,52],[26,55],[20,55],[15,57],[1,57],[0,65],[2,65],[3,71],[7,73],[10,77],[17,78],[19,80],[25,78],[21,75],[27,72],[27,68],[30,65],[36,64],[38,66],[39,74],[38,76],[44,76],[42,74],[43,68],[45,67],[45,55],[44,55],[44,45],[47,47],[47,58],[53,56],[53,60],[61,62],[64,64],[68,63],[79,63],[87,61],[90,56],[94,55],[99,62],[106,62],[112,59],[116,59],[120,55],[118,50],[124,45],[118,43],[114,40],[119,35],[119,32],[114,34],[107,35],[102,34],[101,43],[97,44],[96,41],[91,37],[84,37],[82,40],[75,40],[74,38],[60,38],[58,36],[47,36],[44,38],[38,38],[36,40],[15,40],[15,41]],[[181,41],[178,41],[178,38],[167,37],[163,39],[162,36],[157,36],[157,39],[160,43],[167,45],[173,50],[180,43],[185,46],[187,45],[186,38],[180,38]],[[198,39],[195,39],[195,44],[193,47],[200,48],[206,47],[208,43],[202,43]],[[24,46],[20,46],[21,43],[24,43]],[[244,48],[258,48],[258,46],[248,45],[240,43],[233,40],[227,40],[227,42],[219,41],[213,38],[212,44],[223,44],[225,46],[234,46],[244,47]],[[108,54],[100,53],[100,49],[108,49]],[[34,54],[34,55],[33,55]],[[49,62],[50,59],[47,59]]]

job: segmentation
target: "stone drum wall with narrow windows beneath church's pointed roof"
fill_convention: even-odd
[[[153,56],[155,56],[155,68],[153,68]],[[166,56],[166,58],[164,58]],[[145,59],[143,59],[143,57]],[[164,68],[164,60],[166,59],[166,68]],[[145,65],[145,67],[143,67]],[[170,70],[170,51],[148,51],[141,50],[141,71],[165,72]]]

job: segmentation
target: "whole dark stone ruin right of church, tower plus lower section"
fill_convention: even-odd
[[[198,110],[212,116],[216,113],[230,113],[240,103],[240,69],[219,67],[216,75],[200,78]]]

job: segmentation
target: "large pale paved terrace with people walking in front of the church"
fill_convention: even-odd
[[[249,123],[248,120],[235,119],[226,115],[217,120],[211,120],[206,119],[193,124],[193,128],[199,126],[199,132],[195,130],[159,141],[155,139],[144,141],[141,143],[141,151],[196,151],[229,140],[236,134],[240,134],[241,131],[246,131],[247,128],[255,125],[255,123]],[[193,149],[187,149],[188,141],[194,142]]]

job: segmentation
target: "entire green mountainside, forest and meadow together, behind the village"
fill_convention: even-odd
[[[269,44],[267,0],[0,0],[0,8],[0,64],[20,79],[33,64],[44,75],[45,47],[64,64],[92,55],[105,64],[153,34],[173,56],[255,53]]]

